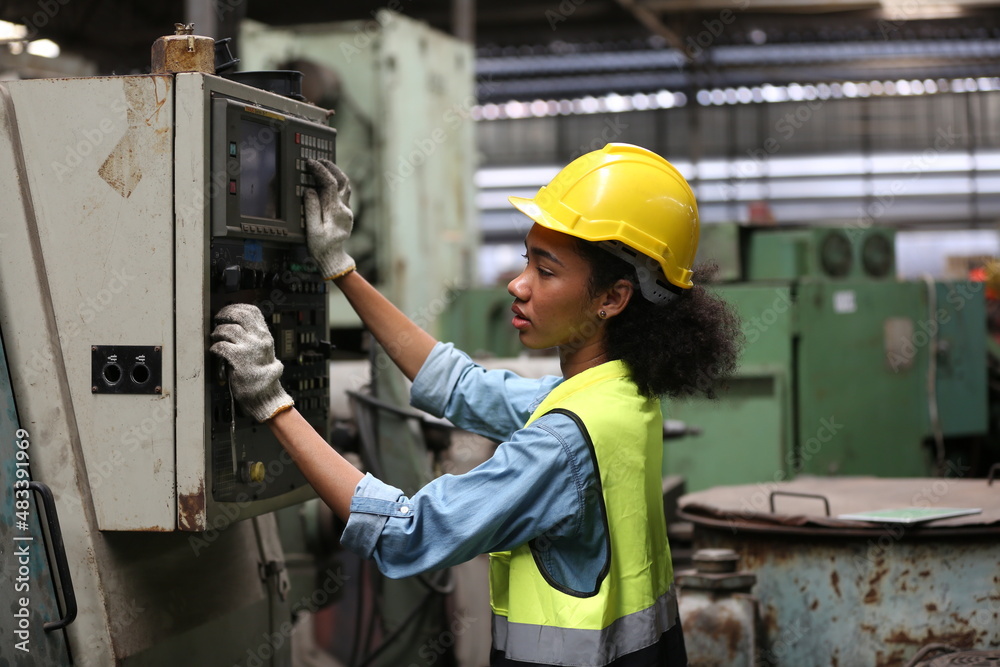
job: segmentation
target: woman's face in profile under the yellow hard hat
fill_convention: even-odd
[[[590,265],[573,237],[533,225],[524,245],[527,265],[507,285],[521,343],[533,350],[580,349],[598,341],[600,297],[590,295]]]

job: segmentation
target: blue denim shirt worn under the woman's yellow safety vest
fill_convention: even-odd
[[[561,414],[524,427],[560,382],[487,371],[438,343],[414,379],[412,405],[502,444],[488,461],[412,498],[366,475],[341,544],[398,578],[540,538],[539,557],[557,583],[593,590],[607,551],[598,494],[588,493],[596,479],[587,442]]]

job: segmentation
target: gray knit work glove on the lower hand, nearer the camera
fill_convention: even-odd
[[[229,385],[243,409],[264,422],[295,405],[281,388],[284,366],[274,358],[274,340],[257,306],[226,306],[215,322],[209,349],[228,362]]]

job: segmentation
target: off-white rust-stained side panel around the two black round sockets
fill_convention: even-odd
[[[173,530],[173,78],[8,85],[32,193],[44,298],[98,525]],[[5,286],[18,287],[16,281]],[[96,391],[95,345],[160,347],[161,391]],[[12,347],[37,357],[38,334],[15,338]],[[54,372],[52,362],[33,361],[13,373],[26,374],[34,388]],[[130,370],[120,373],[127,378]],[[52,400],[38,393],[40,403]]]

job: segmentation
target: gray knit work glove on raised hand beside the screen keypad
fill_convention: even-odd
[[[354,270],[344,243],[351,236],[354,214],[348,202],[351,182],[329,160],[306,160],[316,177],[316,189],[306,190],[306,240],[309,254],[319,262],[326,280],[339,278]]]

